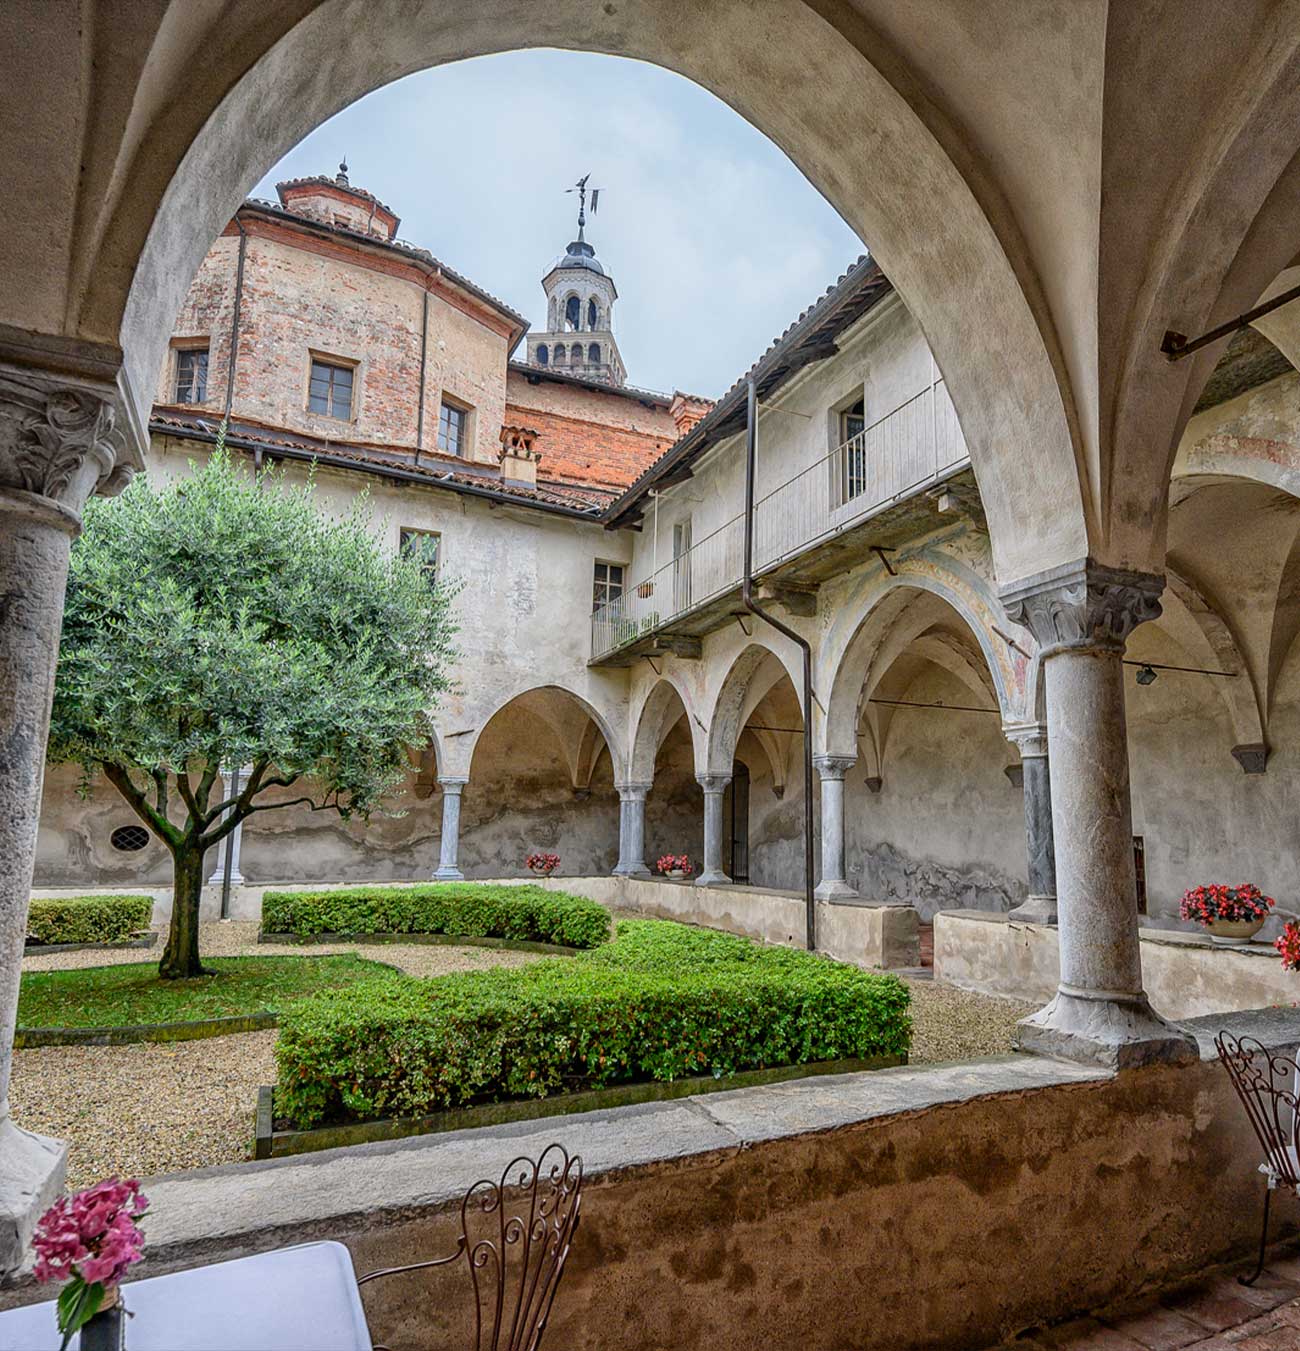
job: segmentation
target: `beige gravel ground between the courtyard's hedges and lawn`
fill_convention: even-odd
[[[441,944],[257,943],[257,924],[205,924],[201,950],[211,957],[277,952],[361,952],[411,975],[536,958],[482,947]],[[27,958],[24,970],[138,962],[149,951],[64,952]],[[912,992],[912,1063],[965,1061],[1011,1050],[1011,1032],[1032,1005],[970,994],[932,981]],[[18,1121],[70,1140],[68,1181],[85,1186],[112,1173],[149,1177],[251,1158],[257,1090],[274,1082],[276,1032],[245,1032],[203,1042],[136,1046],[58,1046],[14,1054],[9,1094]]]

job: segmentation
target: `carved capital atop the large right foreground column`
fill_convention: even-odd
[[[1038,642],[1043,657],[1070,648],[1123,651],[1128,635],[1158,619],[1165,578],[1103,567],[1092,561],[1066,563],[1003,588],[1014,624]]]

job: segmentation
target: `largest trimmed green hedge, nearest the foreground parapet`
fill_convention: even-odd
[[[284,1011],[276,1113],[423,1116],[619,1082],[903,1055],[907,986],[664,920],[512,970],[362,982]]]

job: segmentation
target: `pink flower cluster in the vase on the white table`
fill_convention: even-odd
[[[36,1279],[118,1285],[127,1267],[143,1256],[145,1235],[135,1221],[147,1208],[149,1200],[134,1179],[108,1178],[59,1197],[36,1225]]]

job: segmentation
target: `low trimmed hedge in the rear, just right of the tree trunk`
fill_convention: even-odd
[[[561,947],[609,940],[609,912],[582,896],[541,886],[431,882],[420,886],[346,886],[336,892],[266,892],[262,932],[458,934]]]

